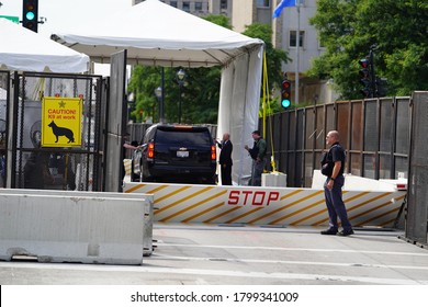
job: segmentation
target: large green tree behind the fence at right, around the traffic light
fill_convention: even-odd
[[[428,2],[425,0],[318,0],[311,23],[326,53],[309,76],[333,78],[342,99],[361,98],[358,60],[375,46],[375,75],[387,95],[428,90]]]

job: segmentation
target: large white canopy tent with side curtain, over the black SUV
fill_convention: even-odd
[[[244,146],[252,145],[251,132],[258,126],[263,42],[158,0],[91,23],[85,32],[53,34],[52,38],[98,62],[109,62],[110,55],[127,49],[128,64],[223,67],[217,134],[230,133],[234,180],[245,183],[251,160]]]

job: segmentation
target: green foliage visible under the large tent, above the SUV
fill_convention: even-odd
[[[165,68],[166,122],[178,123],[181,96],[181,123],[216,123],[221,69],[184,69],[187,75],[181,89],[176,77],[179,69]],[[160,67],[135,66],[128,83],[128,92],[136,93],[135,107],[131,113],[135,122],[144,122],[147,116],[154,122],[159,121],[159,102],[155,89],[160,87]]]

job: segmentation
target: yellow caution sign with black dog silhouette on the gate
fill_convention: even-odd
[[[42,104],[42,147],[80,147],[82,100],[45,96]]]

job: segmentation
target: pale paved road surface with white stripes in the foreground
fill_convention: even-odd
[[[401,231],[241,225],[154,227],[142,265],[0,262],[1,285],[428,285],[428,250]]]

